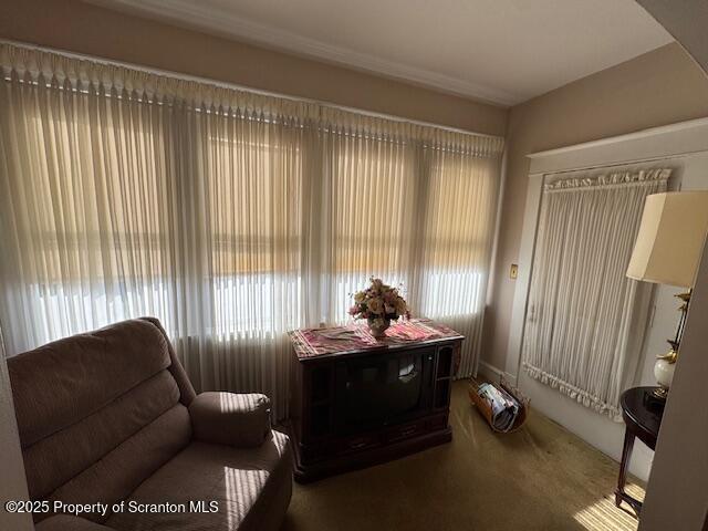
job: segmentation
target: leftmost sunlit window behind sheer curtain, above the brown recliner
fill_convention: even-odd
[[[40,83],[1,90],[14,350],[125,315],[159,311],[169,321],[169,110]]]

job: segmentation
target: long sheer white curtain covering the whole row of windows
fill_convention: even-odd
[[[155,315],[196,387],[284,415],[284,332],[345,321],[378,274],[459,323],[473,371],[502,139],[0,53],[9,354]]]

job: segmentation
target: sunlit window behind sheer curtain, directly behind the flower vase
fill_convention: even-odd
[[[344,323],[352,293],[381,277],[410,285],[417,181],[414,146],[397,138],[331,132],[325,198],[329,283],[325,321]]]

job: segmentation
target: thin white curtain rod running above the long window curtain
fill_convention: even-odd
[[[501,138],[503,140],[506,140],[506,138],[501,135],[490,135],[487,133],[478,133],[476,131],[469,131],[469,129],[462,129],[459,127],[450,127],[447,125],[441,125],[441,124],[435,124],[431,122],[424,122],[424,121],[419,121],[419,119],[412,119],[412,118],[406,118],[404,116],[396,116],[393,114],[385,114],[385,113],[376,113],[374,111],[366,111],[364,108],[358,108],[358,107],[348,107],[346,105],[339,105],[336,103],[332,103],[332,102],[326,102],[326,101],[322,101],[322,100],[314,100],[314,98],[310,98],[310,97],[301,97],[301,96],[292,96],[289,94],[283,94],[283,93],[279,93],[279,92],[272,92],[272,91],[264,91],[262,88],[253,88],[251,86],[247,86],[247,85],[241,85],[238,83],[229,83],[229,82],[223,82],[223,81],[218,81],[218,80],[214,80],[211,77],[201,77],[198,75],[191,75],[191,74],[186,74],[186,73],[180,73],[180,72],[173,72],[169,70],[163,70],[163,69],[155,69],[152,66],[143,66],[139,64],[134,64],[134,63],[126,63],[124,61],[115,61],[115,60],[111,60],[111,59],[104,59],[104,58],[97,58],[95,55],[87,55],[84,53],[76,53],[76,52],[70,52],[66,50],[60,50],[56,48],[50,48],[50,46],[41,46],[39,44],[31,44],[31,43],[27,43],[27,42],[21,42],[21,41],[13,41],[11,39],[1,39],[0,38],[0,43],[2,44],[10,44],[12,46],[17,46],[17,48],[24,48],[27,50],[37,50],[40,52],[46,52],[46,53],[56,53],[59,55],[64,55],[66,58],[71,58],[71,59],[80,59],[83,61],[93,61],[95,63],[100,63],[100,64],[105,64],[107,66],[121,66],[121,67],[125,67],[125,69],[129,69],[129,70],[137,70],[140,72],[145,72],[148,74],[155,74],[155,75],[162,75],[164,77],[171,77],[171,79],[176,79],[176,80],[183,80],[183,81],[194,81],[197,83],[208,83],[211,85],[216,85],[222,88],[231,88],[231,90],[238,90],[238,91],[243,91],[243,92],[251,92],[253,94],[259,94],[262,96],[270,96],[270,97],[280,97],[283,100],[290,100],[292,102],[302,102],[302,103],[313,103],[316,105],[322,105],[325,107],[330,107],[330,108],[336,108],[340,111],[345,111],[348,113],[355,113],[355,114],[363,114],[365,116],[371,116],[374,118],[385,118],[385,119],[392,119],[395,122],[403,122],[403,123],[408,123],[408,124],[413,124],[413,125],[420,125],[424,127],[435,127],[437,129],[442,129],[442,131],[449,131],[451,133],[460,133],[460,134],[465,134],[465,135],[473,135],[473,136],[479,136],[482,138]]]

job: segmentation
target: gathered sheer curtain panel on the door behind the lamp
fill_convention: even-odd
[[[560,179],[543,190],[523,366],[586,407],[620,418],[647,321],[650,287],[625,272],[646,196],[669,169]]]

